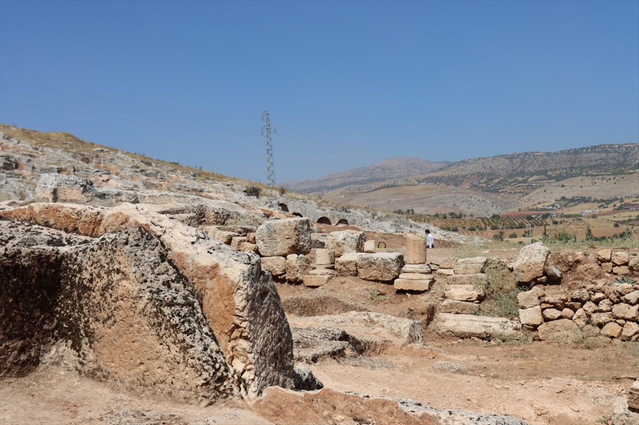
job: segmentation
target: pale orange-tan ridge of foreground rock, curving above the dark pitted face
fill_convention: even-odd
[[[144,204],[109,209],[35,203],[0,210],[0,217],[98,237],[141,227],[157,237],[167,257],[196,292],[208,325],[247,396],[293,382],[293,339],[273,281],[259,257],[207,239],[196,228],[150,211]],[[260,326],[251,324],[259,323]],[[268,328],[268,332],[259,329]],[[277,335],[277,344],[273,335]]]

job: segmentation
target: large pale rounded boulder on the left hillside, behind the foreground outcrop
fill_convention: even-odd
[[[44,202],[77,202],[85,204],[95,197],[93,182],[84,177],[42,174],[33,192],[35,200]]]

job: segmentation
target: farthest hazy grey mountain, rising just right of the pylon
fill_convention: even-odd
[[[367,167],[328,174],[317,180],[286,182],[282,186],[302,192],[332,190],[350,184],[375,183],[388,179],[401,179],[412,175],[427,174],[447,165],[450,165],[450,161],[433,162],[423,158],[397,156]]]

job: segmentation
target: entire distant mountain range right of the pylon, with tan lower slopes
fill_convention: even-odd
[[[453,163],[391,158],[371,167],[284,186],[383,211],[491,215],[553,202],[562,196],[636,195],[639,144],[514,153]]]

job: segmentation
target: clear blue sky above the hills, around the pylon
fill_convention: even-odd
[[[639,1],[0,0],[0,121],[266,183],[639,141]]]

